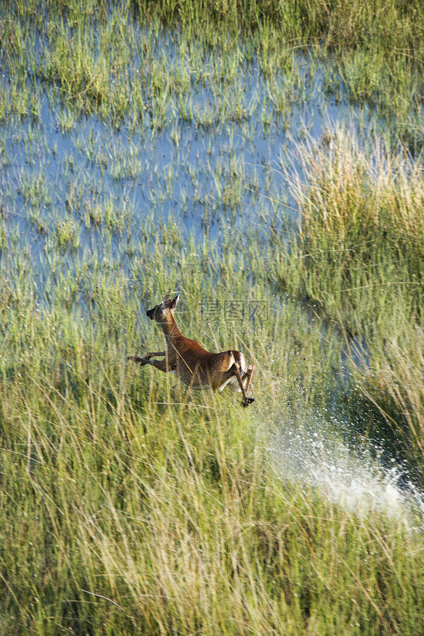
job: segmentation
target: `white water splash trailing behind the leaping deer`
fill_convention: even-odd
[[[424,529],[424,493],[392,460],[383,463],[379,445],[349,448],[334,425],[319,415],[276,430],[270,452],[283,481],[312,488],[359,516],[378,513],[411,529]]]

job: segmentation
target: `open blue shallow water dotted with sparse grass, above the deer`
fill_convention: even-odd
[[[299,73],[306,82],[301,58]],[[3,211],[34,253],[58,223],[70,220],[79,227],[81,249],[95,242],[102,251],[96,212],[100,224],[107,219],[93,208],[105,205],[113,217],[121,213],[135,237],[146,217],[165,223],[172,218],[196,239],[205,232],[216,239],[223,225],[260,229],[293,219],[296,209],[279,170],[286,154],[299,139],[320,139],[324,130],[348,121],[358,130],[371,116],[325,98],[320,71],[310,84],[307,100],[287,104],[284,121],[272,113],[269,123],[259,119],[267,90],[259,76],[257,106],[245,120],[199,127],[174,114],[160,132],[147,122],[130,130],[92,116],[75,120],[46,97],[38,117],[11,117],[0,126]],[[207,87],[202,92],[196,86],[198,104],[210,99]],[[116,219],[110,223],[113,235]],[[116,244],[113,253],[119,253]]]

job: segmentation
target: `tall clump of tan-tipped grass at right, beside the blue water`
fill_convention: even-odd
[[[317,303],[346,342],[359,338],[365,393],[422,456],[422,158],[381,138],[360,146],[340,128],[299,144],[299,171],[291,161],[284,176],[299,219],[281,247],[280,284]]]

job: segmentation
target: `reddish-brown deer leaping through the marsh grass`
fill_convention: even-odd
[[[232,391],[242,392],[242,406],[249,406],[255,401],[254,397],[247,397],[250,380],[255,367],[246,365],[245,357],[240,351],[223,351],[211,353],[196,341],[183,336],[174,312],[180,294],[173,300],[169,294],[164,296],[160,305],[146,312],[147,317],[161,326],[165,334],[167,349],[161,352],[147,353],[144,357],[128,356],[128,360],[140,363],[141,366],[150,364],[155,369],[165,373],[176,373],[177,377],[188,385],[188,391],[193,387],[209,387],[219,393],[229,387]],[[163,357],[157,360],[156,357]]]

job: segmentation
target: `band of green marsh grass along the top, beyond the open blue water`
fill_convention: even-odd
[[[0,116],[39,118],[47,95],[50,106],[60,106],[65,130],[84,114],[151,134],[175,130],[180,121],[209,128],[253,115],[265,129],[276,121],[287,126],[292,104],[310,93],[319,61],[325,93],[376,107],[393,134],[421,147],[420,3],[242,6],[5,5]],[[221,57],[211,55],[217,51]],[[308,58],[308,73],[299,74],[299,54]],[[266,81],[265,104],[257,90],[246,99],[254,74]],[[198,100],[199,87],[208,88],[213,105]]]

